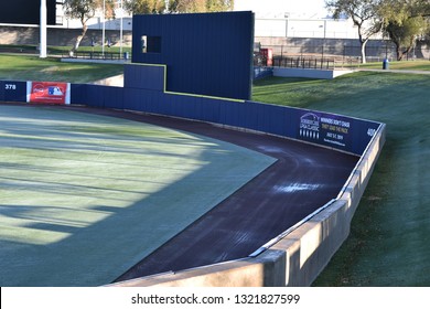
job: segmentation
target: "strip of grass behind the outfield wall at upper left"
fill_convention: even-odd
[[[92,83],[122,72],[121,64],[65,63],[58,58],[0,54],[0,79]]]

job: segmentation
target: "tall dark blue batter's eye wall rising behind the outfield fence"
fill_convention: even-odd
[[[143,35],[161,38],[159,53]],[[133,17],[132,62],[165,64],[169,92],[249,99],[252,44],[252,12]]]

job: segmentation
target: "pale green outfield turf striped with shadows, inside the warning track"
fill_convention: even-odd
[[[272,162],[147,124],[0,105],[0,286],[109,284]]]

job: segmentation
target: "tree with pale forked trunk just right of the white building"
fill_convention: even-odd
[[[383,20],[379,18],[381,0],[326,0],[325,6],[333,10],[333,18],[343,14],[351,18],[357,26],[358,40],[362,46],[362,63],[366,63],[366,44],[368,40],[380,32]]]

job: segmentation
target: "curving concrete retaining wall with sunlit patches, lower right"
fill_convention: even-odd
[[[381,125],[336,200],[257,257],[110,286],[310,286],[350,234],[352,217],[381,151],[385,135],[386,127]]]

